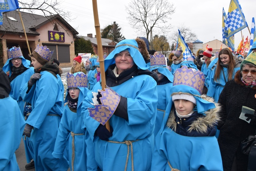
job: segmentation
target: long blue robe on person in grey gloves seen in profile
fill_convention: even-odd
[[[35,162],[35,169],[68,169],[66,158],[56,159],[52,156],[58,127],[63,112],[63,96],[57,78],[48,71],[40,72],[41,78],[28,90],[26,83],[20,90],[25,101],[32,104],[26,123],[33,126],[29,143]]]

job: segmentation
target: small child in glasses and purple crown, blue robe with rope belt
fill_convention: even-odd
[[[87,76],[83,72],[67,74],[67,96],[55,142],[55,158],[62,158],[68,141],[69,167],[73,170],[87,170],[85,131],[81,129],[83,118],[81,116],[82,101],[86,97]],[[97,167],[96,167],[97,169]]]

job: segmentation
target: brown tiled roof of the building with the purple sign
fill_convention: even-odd
[[[60,20],[74,35],[78,32],[70,26],[59,14],[56,14],[52,17],[42,16],[37,14],[31,14],[26,12],[20,12],[26,33],[28,35],[40,35],[36,29],[40,28],[44,24],[50,22],[51,20],[58,19]],[[13,17],[17,21],[13,21],[8,17]],[[0,25],[0,33],[17,33],[24,34],[22,23],[19,17],[18,11],[10,11],[3,14],[3,25]]]

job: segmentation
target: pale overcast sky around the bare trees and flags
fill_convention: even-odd
[[[126,39],[135,39],[137,36],[146,37],[138,35],[128,23],[125,5],[128,5],[129,2],[130,0],[97,0],[100,27],[104,28],[116,21],[122,28],[121,33]],[[167,37],[170,37],[178,26],[184,25],[195,32],[197,38],[203,43],[214,39],[222,41],[222,9],[224,7],[226,14],[228,13],[230,0],[169,0],[169,2],[173,3],[176,9],[170,21],[173,29],[170,29]],[[240,0],[239,2],[251,31],[252,17],[256,17],[256,2],[255,0]],[[61,6],[70,11],[73,17],[76,17],[69,24],[79,32],[79,35],[96,34],[91,0],[72,0],[72,4],[70,4],[70,0],[63,0]],[[242,30],[242,34],[244,39],[247,35],[250,37],[247,28]],[[241,39],[240,31],[235,34],[235,49]]]

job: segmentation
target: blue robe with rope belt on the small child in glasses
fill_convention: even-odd
[[[76,73],[74,73],[76,75]],[[60,120],[60,125],[58,129],[58,134],[54,146],[54,152],[52,155],[55,158],[62,158],[65,148],[66,148],[66,141],[68,139],[68,151],[69,151],[69,168],[72,170],[72,140],[73,137],[71,132],[74,134],[74,170],[87,170],[86,166],[86,144],[85,144],[85,134],[82,129],[82,121],[83,118],[81,116],[81,106],[84,97],[87,95],[89,91],[87,87],[78,87],[80,89],[79,98],[77,102],[77,112],[72,112],[69,109],[68,104],[64,106],[62,118]],[[67,92],[68,94],[68,92]],[[68,98],[66,96],[65,102],[68,102]]]

